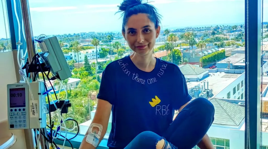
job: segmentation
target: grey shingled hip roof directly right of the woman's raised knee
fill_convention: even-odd
[[[245,108],[218,98],[209,99],[214,105],[213,124],[239,126],[245,118]]]

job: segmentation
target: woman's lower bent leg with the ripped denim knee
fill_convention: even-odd
[[[176,149],[163,137],[151,131],[137,135],[124,149]]]

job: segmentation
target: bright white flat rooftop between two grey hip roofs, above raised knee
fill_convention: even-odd
[[[209,82],[209,88],[212,88],[212,93],[217,95],[224,88],[226,88],[229,84],[235,81],[241,74],[236,73],[209,73],[210,76],[204,79]]]

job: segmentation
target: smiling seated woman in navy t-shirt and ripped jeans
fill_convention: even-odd
[[[110,149],[191,149],[197,144],[213,148],[206,135],[214,120],[213,105],[204,98],[190,102],[178,66],[153,57],[160,33],[160,15],[154,6],[125,0],[119,10],[124,12],[122,34],[134,53],[111,62],[103,72],[89,132],[101,130],[101,140],[112,111]],[[179,114],[173,121],[175,110]],[[81,149],[95,148],[86,141],[88,136]]]

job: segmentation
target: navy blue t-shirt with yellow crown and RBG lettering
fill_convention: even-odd
[[[113,149],[124,148],[143,131],[161,136],[172,123],[174,110],[192,99],[177,65],[157,58],[155,68],[144,72],[129,56],[107,65],[97,98],[112,104],[107,146]]]

